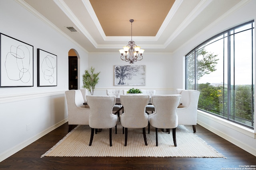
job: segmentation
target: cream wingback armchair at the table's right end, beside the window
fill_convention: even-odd
[[[197,90],[176,89],[176,94],[181,94],[181,104],[178,106],[178,124],[192,125],[196,132],[197,105],[200,92]]]

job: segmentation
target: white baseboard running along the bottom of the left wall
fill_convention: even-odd
[[[6,150],[5,152],[3,152],[2,154],[0,154],[0,162],[2,162],[3,160],[5,160],[6,158],[12,156],[13,154],[15,154],[16,152],[22,150],[23,148],[27,147],[28,145],[30,145],[31,143],[35,142],[36,140],[40,139],[41,137],[43,137],[44,135],[46,135],[47,133],[50,133],[51,131],[53,131],[54,129],[56,129],[57,127],[60,127],[61,125],[63,125],[64,123],[66,123],[68,121],[68,118],[60,121],[59,123],[56,123],[55,125],[49,127],[48,129],[45,129],[44,131],[42,131],[41,133],[35,135],[34,137],[31,137],[30,139],[20,143],[19,145],[16,145],[15,147]]]

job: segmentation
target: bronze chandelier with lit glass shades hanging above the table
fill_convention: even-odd
[[[124,61],[128,61],[130,64],[133,64],[136,61],[140,61],[143,59],[143,52],[144,49],[140,49],[139,46],[132,41],[132,22],[134,20],[130,20],[131,23],[131,41],[128,42],[128,45],[124,46],[124,49],[120,49],[119,52],[121,53],[121,59]],[[128,57],[129,54],[129,57]]]

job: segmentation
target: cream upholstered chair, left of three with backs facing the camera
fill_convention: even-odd
[[[112,114],[116,96],[86,96],[86,99],[90,107],[91,138],[89,146],[92,145],[94,129],[109,129],[109,143],[112,147],[112,127],[116,127],[117,123],[117,115]]]

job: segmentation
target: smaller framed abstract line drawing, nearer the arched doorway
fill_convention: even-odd
[[[37,49],[37,86],[57,86],[57,56]]]

